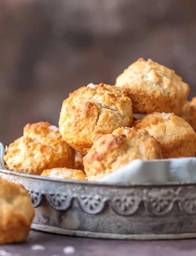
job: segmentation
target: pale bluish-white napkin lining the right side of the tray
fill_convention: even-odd
[[[142,161],[128,165],[101,178],[101,183],[162,183],[169,181],[196,181],[196,157]]]

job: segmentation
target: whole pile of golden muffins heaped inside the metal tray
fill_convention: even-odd
[[[63,101],[59,128],[27,124],[8,146],[9,170],[97,181],[134,159],[194,157],[196,98],[175,71],[139,58],[116,79],[78,88]],[[142,114],[137,120],[134,114]],[[76,157],[77,152],[77,157]]]

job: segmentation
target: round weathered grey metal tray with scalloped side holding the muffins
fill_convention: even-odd
[[[196,183],[111,185],[8,171],[0,147],[0,177],[21,183],[35,207],[32,228],[114,239],[196,237]]]

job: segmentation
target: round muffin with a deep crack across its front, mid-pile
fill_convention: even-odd
[[[76,151],[87,154],[97,133],[111,133],[132,125],[131,99],[111,85],[83,86],[65,99],[59,119],[63,139]]]

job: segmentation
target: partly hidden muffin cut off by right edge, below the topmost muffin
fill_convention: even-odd
[[[196,132],[196,97],[192,98],[191,101],[185,102],[180,117],[185,119]]]

